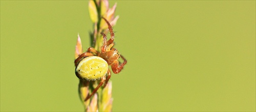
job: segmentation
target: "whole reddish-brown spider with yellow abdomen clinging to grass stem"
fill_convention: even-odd
[[[105,84],[103,87],[106,86],[111,77],[111,71],[108,67],[109,65],[111,66],[112,71],[117,74],[127,63],[126,59],[119,53],[119,51],[113,48],[115,35],[112,26],[108,20],[105,18],[103,19],[109,26],[111,38],[106,41],[106,35],[101,33],[103,36],[101,52],[97,51],[93,47],[89,47],[87,52],[80,54],[79,57],[75,60],[75,73],[78,78],[88,81],[101,79],[99,85],[93,90],[91,95],[87,96],[84,101],[87,101],[89,98],[91,98],[104,82]],[[119,58],[123,60],[123,63],[119,63]],[[106,76],[106,74],[108,75]]]

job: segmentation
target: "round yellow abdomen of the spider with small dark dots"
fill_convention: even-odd
[[[82,59],[76,67],[76,75],[80,79],[96,80],[108,72],[108,63],[100,57],[91,56]]]

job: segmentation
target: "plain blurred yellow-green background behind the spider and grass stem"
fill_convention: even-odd
[[[255,1],[117,2],[113,111],[255,111]],[[1,1],[1,111],[83,111],[88,1]]]

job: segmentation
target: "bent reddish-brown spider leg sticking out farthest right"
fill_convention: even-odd
[[[123,63],[121,65],[119,65],[117,60],[111,65],[112,71],[116,74],[121,72],[124,65],[127,63],[126,59],[122,55],[120,55],[120,57],[123,59]]]

